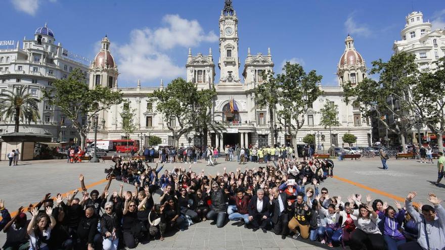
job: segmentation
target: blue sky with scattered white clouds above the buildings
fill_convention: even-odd
[[[338,85],[335,72],[348,33],[368,69],[372,61],[388,60],[394,40],[400,40],[405,17],[421,11],[434,28],[445,27],[442,1],[233,0],[238,16],[240,75],[247,56],[267,54],[274,71],[286,61],[306,72],[316,70],[322,85]],[[217,66],[218,19],[224,0],[3,0],[3,20],[14,20],[0,40],[30,39],[45,23],[56,42],[93,60],[105,34],[118,65],[119,87],[158,86],[186,76],[189,47],[207,55],[212,48]],[[375,78],[376,76],[371,76]]]

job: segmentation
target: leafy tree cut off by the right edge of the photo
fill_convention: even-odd
[[[435,62],[434,72],[421,74],[419,83],[413,88],[413,103],[420,106],[419,117],[437,136],[439,152],[443,152],[442,135],[445,133],[445,57]]]

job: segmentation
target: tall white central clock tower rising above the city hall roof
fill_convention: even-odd
[[[232,0],[226,0],[219,16],[219,82],[240,82],[238,57],[238,18]]]

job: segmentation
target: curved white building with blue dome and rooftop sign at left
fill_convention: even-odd
[[[28,85],[29,92],[40,98],[41,88],[51,89],[54,80],[67,78],[75,68],[86,77],[88,61],[69,52],[60,42],[56,43],[54,32],[45,24],[35,30],[33,39],[25,37],[22,44],[15,43],[15,48],[0,48],[0,91]],[[49,134],[53,141],[79,138],[71,121],[65,119],[57,107],[43,101],[38,105],[38,113],[40,120],[30,124],[21,122],[19,132]],[[14,132],[14,120],[0,117],[0,134],[11,132]]]

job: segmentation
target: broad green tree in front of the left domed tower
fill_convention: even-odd
[[[91,120],[102,110],[122,102],[122,93],[109,88],[96,86],[88,88],[85,77],[79,69],[74,69],[68,78],[53,82],[53,89],[42,89],[43,98],[48,99],[50,105],[56,105],[60,111],[72,121],[72,126],[80,135],[80,147],[85,146],[86,135],[90,131],[88,123],[79,118]]]

